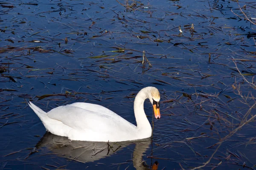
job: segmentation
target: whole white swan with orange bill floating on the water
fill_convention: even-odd
[[[159,91],[154,87],[143,88],[134,100],[137,127],[108,108],[91,103],[76,102],[59,106],[48,113],[32,102],[29,106],[52,134],[79,141],[121,142],[151,136],[152,128],[143,106],[145,99],[153,105],[156,119],[160,118]]]

